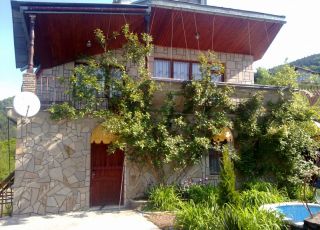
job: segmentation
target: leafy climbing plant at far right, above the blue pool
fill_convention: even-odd
[[[289,98],[267,105],[255,95],[240,104],[235,114],[237,168],[247,178],[273,180],[295,197],[294,188],[303,183],[301,169],[317,160],[319,143],[313,137],[319,131],[313,119],[318,113],[300,94],[291,92]]]

